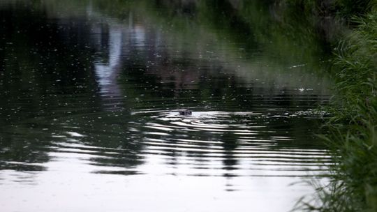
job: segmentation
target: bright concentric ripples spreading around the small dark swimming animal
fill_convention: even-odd
[[[281,120],[224,111],[181,116],[175,110],[139,111],[133,116],[143,121],[133,126],[144,145],[142,154],[164,174],[309,176],[325,174],[320,165],[331,162],[309,134],[290,132],[291,124],[313,124],[300,116]]]

